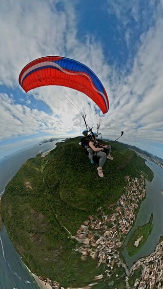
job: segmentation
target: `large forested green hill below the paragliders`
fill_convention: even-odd
[[[144,159],[115,142],[114,160],[106,160],[100,178],[98,164],[90,163],[79,140],[68,139],[45,158],[28,160],[2,198],[3,223],[17,252],[33,273],[63,286],[84,286],[104,273],[104,265],[96,268],[98,260],[81,261],[68,231],[76,235],[98,207],[109,214],[108,207],[124,193],[126,175],[144,171],[148,180],[153,177]]]

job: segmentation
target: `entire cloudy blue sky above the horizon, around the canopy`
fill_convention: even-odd
[[[0,158],[50,137],[103,138],[163,159],[163,0],[0,0]],[[49,55],[86,64],[103,83],[109,112],[72,89],[25,93],[18,76]],[[76,105],[78,108],[76,108]]]

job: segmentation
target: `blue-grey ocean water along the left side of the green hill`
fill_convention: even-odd
[[[0,160],[0,194],[6,185],[30,158],[34,158],[40,151],[46,152],[56,147],[56,142],[62,139],[37,144],[17,151]],[[33,272],[34,273],[34,272]],[[21,256],[15,251],[4,226],[0,231],[0,289],[38,289],[36,281],[27,270]]]

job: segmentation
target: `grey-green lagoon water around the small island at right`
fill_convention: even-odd
[[[146,161],[146,165],[154,172],[154,178],[151,183],[146,180],[146,198],[142,201],[135,224],[124,242],[123,256],[128,268],[131,268],[132,264],[138,259],[153,253],[160,236],[163,235],[163,195],[161,194],[163,188],[163,169],[151,161]],[[134,256],[129,256],[126,249],[129,238],[138,226],[148,223],[152,213],[153,230],[151,235],[144,246],[142,246]]]

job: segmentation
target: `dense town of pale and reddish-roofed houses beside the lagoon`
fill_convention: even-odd
[[[126,288],[143,289],[147,287],[153,288],[154,286],[161,288],[163,285],[161,269],[163,265],[163,241],[157,245],[156,250],[150,256],[135,262],[130,270],[121,256],[121,248],[125,237],[134,224],[140,202],[146,196],[145,178],[142,172],[140,179],[136,177],[131,179],[126,176],[126,183],[125,193],[121,195],[118,202],[108,207],[111,210],[111,214],[107,215],[101,207],[98,208],[97,214],[88,216],[88,219],[84,221],[76,232],[76,235],[71,235],[71,238],[76,239],[78,242],[74,250],[81,254],[81,260],[83,261],[86,258],[98,258],[97,266],[105,263],[106,270],[104,273],[109,278],[119,278],[118,270],[120,268],[123,269]],[[141,269],[140,276],[135,279],[131,287],[130,278],[138,269]],[[80,289],[90,289],[97,284],[98,280],[105,278],[105,275],[94,276],[94,282]],[[65,289],[57,282],[48,281],[47,283],[54,289]],[[75,288],[68,287],[67,289]]]

